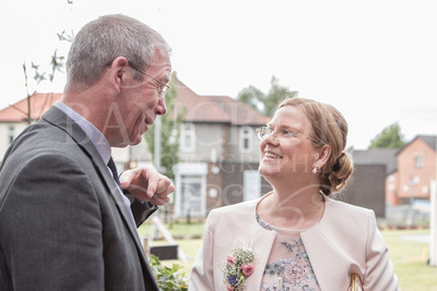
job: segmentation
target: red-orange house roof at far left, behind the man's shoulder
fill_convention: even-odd
[[[60,93],[35,93],[31,96],[31,118],[38,120],[56,101],[62,97]],[[0,122],[21,122],[27,120],[27,98],[0,110]]]

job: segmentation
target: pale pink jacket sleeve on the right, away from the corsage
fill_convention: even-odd
[[[389,250],[378,230],[375,213],[369,211],[366,246],[366,276],[364,290],[399,290],[398,277],[390,260]]]

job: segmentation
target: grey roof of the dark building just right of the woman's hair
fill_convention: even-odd
[[[370,148],[367,150],[354,150],[352,156],[354,165],[385,165],[387,173],[391,173],[398,169],[397,153],[399,148]]]

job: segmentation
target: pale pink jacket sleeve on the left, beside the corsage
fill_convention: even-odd
[[[212,210],[208,216],[203,231],[203,241],[192,264],[190,283],[188,287],[189,291],[215,290],[213,263],[213,221],[214,210]]]

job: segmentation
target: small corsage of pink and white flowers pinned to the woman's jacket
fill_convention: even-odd
[[[245,280],[255,269],[255,254],[250,245],[245,245],[240,241],[235,243],[233,252],[227,255],[227,262],[218,265],[226,284],[227,291],[241,291],[245,288]]]

